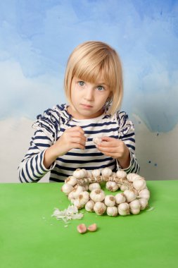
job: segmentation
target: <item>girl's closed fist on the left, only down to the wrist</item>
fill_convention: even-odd
[[[56,158],[64,155],[71,149],[84,150],[87,138],[84,136],[84,130],[80,126],[74,126],[65,130],[61,138],[53,145],[56,151]]]

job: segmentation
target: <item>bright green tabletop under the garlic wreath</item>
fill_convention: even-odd
[[[178,267],[178,181],[147,181],[152,211],[115,218],[84,212],[68,227],[51,217],[70,205],[61,185],[0,184],[0,267]],[[80,234],[81,223],[98,231]]]

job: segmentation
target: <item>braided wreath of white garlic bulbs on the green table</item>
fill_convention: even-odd
[[[106,183],[106,189],[122,193],[105,195],[101,183]],[[103,184],[102,184],[103,185]],[[125,173],[118,170],[114,173],[111,169],[76,169],[72,176],[66,178],[61,190],[68,195],[68,200],[78,209],[85,208],[87,212],[97,215],[116,217],[139,214],[148,207],[150,192],[143,177],[136,173]]]

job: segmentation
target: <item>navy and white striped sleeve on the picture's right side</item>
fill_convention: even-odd
[[[124,111],[117,112],[117,121],[119,123],[119,138],[120,140],[125,142],[125,145],[127,145],[130,152],[129,167],[123,170],[127,173],[139,173],[139,164],[135,156],[134,124],[132,123],[132,121],[129,121],[129,118]]]

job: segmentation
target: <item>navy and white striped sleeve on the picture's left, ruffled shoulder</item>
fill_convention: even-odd
[[[37,116],[32,126],[37,131],[30,141],[30,147],[23,161],[18,166],[18,176],[21,183],[38,182],[48,171],[53,169],[56,162],[49,169],[44,166],[46,149],[56,140],[56,121],[51,117],[49,110],[44,115]]]

